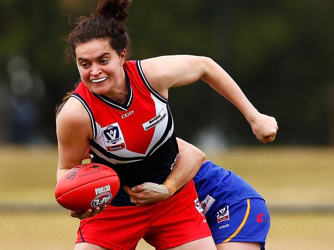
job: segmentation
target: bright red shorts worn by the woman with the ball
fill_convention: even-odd
[[[108,205],[101,214],[81,220],[76,243],[135,249],[144,238],[156,249],[175,247],[211,236],[201,210],[191,181],[162,202],[144,206]]]

